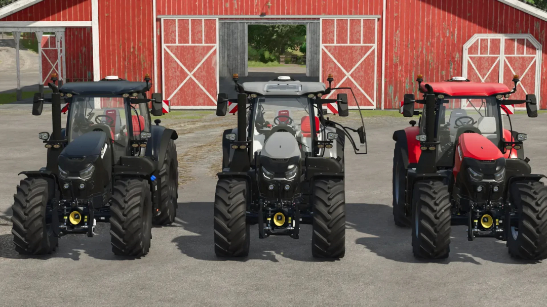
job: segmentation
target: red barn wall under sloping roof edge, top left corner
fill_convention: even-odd
[[[44,0],[0,21],[91,21],[91,1]]]

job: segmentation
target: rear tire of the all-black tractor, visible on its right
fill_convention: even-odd
[[[160,214],[152,217],[154,225],[169,225],[177,216],[178,161],[174,141],[169,141],[165,162],[160,170],[161,202]]]

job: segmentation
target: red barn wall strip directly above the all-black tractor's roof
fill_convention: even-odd
[[[98,17],[101,78],[142,81],[150,74],[154,80],[152,1],[99,1]]]

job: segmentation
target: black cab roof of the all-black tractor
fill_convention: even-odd
[[[115,80],[95,82],[67,82],[59,91],[61,93],[72,93],[73,95],[113,95],[119,96],[125,93],[142,93],[149,90],[146,82]]]

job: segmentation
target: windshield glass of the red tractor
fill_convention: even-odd
[[[499,147],[501,141],[499,107],[494,98],[437,100],[435,136],[440,142],[439,166],[450,167],[454,161],[454,143],[465,132],[484,135]],[[421,121],[423,133],[424,120]],[[446,165],[445,165],[446,164]]]

